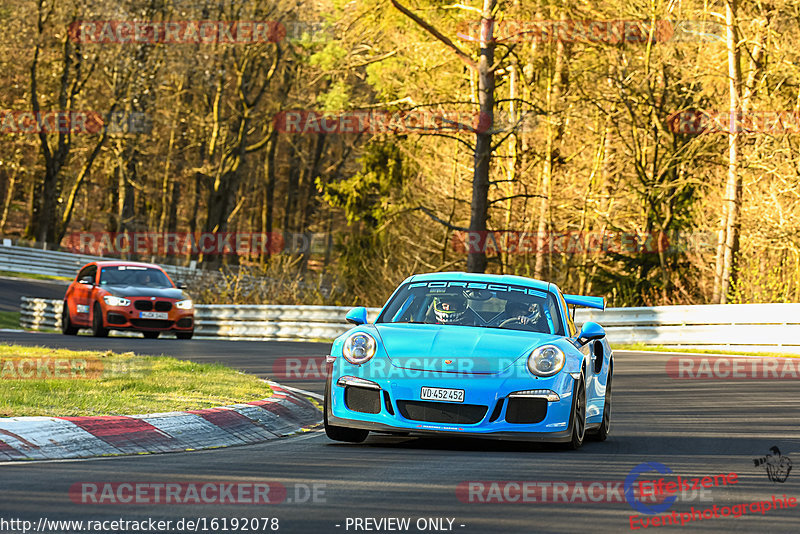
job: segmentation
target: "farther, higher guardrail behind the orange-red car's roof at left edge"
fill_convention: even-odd
[[[0,245],[0,271],[45,276],[63,276],[74,279],[78,270],[92,261],[109,261],[114,258],[87,256],[71,252],[42,250],[38,248]],[[159,264],[173,278],[181,279],[196,271],[188,267]]]

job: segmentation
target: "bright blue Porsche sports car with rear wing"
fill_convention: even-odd
[[[605,331],[577,332],[562,295],[520,276],[435,273],[406,279],[374,324],[333,342],[325,432],[359,443],[370,431],[563,442],[605,440],[614,361]]]

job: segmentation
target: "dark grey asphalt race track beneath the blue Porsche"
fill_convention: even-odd
[[[272,341],[93,339],[22,333],[0,333],[0,342],[166,353],[197,361],[223,361],[259,376],[270,375],[280,358],[319,356],[328,346]],[[697,492],[687,492],[685,500],[673,504],[667,513],[691,513],[692,507],[703,510],[715,505],[721,510],[723,506],[769,500],[772,495],[799,497],[800,473],[792,472],[783,483],[771,482],[763,467],[754,465],[754,459],[768,454],[774,446],[784,456],[793,458],[795,464],[800,462],[798,381],[677,380],[665,371],[668,359],[648,353],[616,356],[612,436],[604,443],[587,443],[578,451],[496,441],[379,435],[370,436],[364,444],[350,445],[332,442],[322,432],[312,432],[262,445],[211,451],[4,464],[0,465],[0,532],[6,531],[2,519],[38,523],[41,518],[83,521],[153,518],[173,521],[174,532],[187,531],[185,525],[183,530],[174,527],[181,518],[205,518],[205,532],[224,532],[222,523],[211,529],[208,521],[212,518],[230,521],[234,517],[278,518],[279,532],[299,533],[625,532],[631,529],[630,516],[641,514],[616,492],[622,493],[626,476],[643,462],[658,462],[671,469],[669,480],[676,475],[738,474],[735,484],[708,490],[702,497]],[[323,389],[321,379],[306,377],[282,382],[315,392]],[[651,471],[642,475],[641,480],[660,476]],[[270,505],[193,502],[101,505],[81,503],[80,499],[75,503],[69,496],[70,487],[81,482],[201,484],[207,481],[277,482],[287,488],[287,499]],[[586,488],[591,482],[600,481],[606,490],[603,495],[610,495],[613,502],[591,502],[592,498],[607,500],[608,497],[601,497],[598,491],[582,495],[574,486],[559,498],[574,502],[470,502],[469,494],[457,492],[460,484],[469,481],[527,481],[543,485],[583,482]],[[306,488],[314,486],[324,493],[306,500]],[[511,498],[518,495],[514,491],[508,493]],[[362,522],[362,528],[354,528],[356,518],[390,517],[409,518],[410,528],[379,530],[371,522]],[[452,529],[446,520],[439,529],[417,524],[421,518],[452,519]],[[122,531],[113,530],[112,526],[108,524],[101,532]],[[227,526],[232,531],[231,523]],[[363,528],[367,526],[373,528]],[[798,532],[800,508],[770,510],[766,514],[748,512],[739,518],[703,519],[683,527],[647,529],[653,530]],[[198,531],[204,531],[202,525]]]

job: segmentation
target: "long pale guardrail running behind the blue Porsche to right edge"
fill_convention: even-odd
[[[20,326],[60,329],[61,301],[22,297]],[[337,306],[198,305],[195,335],[331,340],[351,325]],[[378,308],[368,308],[374,321]],[[800,304],[722,304],[578,309],[575,322],[603,325],[612,344],[800,353]]]

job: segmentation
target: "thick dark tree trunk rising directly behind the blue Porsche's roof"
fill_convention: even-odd
[[[494,8],[497,0],[484,0],[481,14],[480,57],[478,58],[478,105],[481,120],[494,124]],[[486,232],[489,210],[489,166],[492,157],[492,134],[490,128],[478,131],[473,157],[472,205],[469,220],[470,235]],[[467,271],[486,271],[486,252],[470,250],[467,256]]]

